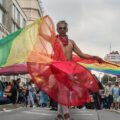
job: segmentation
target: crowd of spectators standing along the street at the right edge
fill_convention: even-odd
[[[100,86],[99,86],[100,87]],[[90,109],[113,109],[120,110],[120,82],[112,83],[108,81],[106,85],[102,85],[97,93],[90,91],[91,102],[86,104]],[[93,104],[92,104],[93,103]]]

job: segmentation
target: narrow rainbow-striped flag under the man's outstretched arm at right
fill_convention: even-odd
[[[102,63],[98,63],[93,59],[83,59],[77,55],[73,55],[73,61],[77,61],[79,64],[86,67],[88,70],[95,70],[98,72],[120,75],[120,66],[115,63],[110,63],[106,61],[102,61]]]

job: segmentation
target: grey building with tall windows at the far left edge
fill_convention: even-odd
[[[24,27],[27,17],[17,0],[0,0],[0,37]]]

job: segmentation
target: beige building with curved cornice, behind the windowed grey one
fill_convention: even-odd
[[[27,16],[27,24],[43,16],[40,0],[17,0]]]

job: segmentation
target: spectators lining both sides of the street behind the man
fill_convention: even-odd
[[[20,85],[21,79],[11,80],[11,82],[4,82],[4,90],[0,93],[0,104],[21,104],[29,107],[45,107],[51,106],[51,110],[57,110],[57,103],[49,98],[43,91],[40,91],[33,83],[32,80],[29,83]],[[120,109],[120,82],[116,81],[112,84],[110,81],[107,85],[102,85],[99,81],[99,92],[93,93],[90,91],[93,104],[91,108],[96,109]],[[4,101],[4,102],[3,102]],[[50,103],[50,104],[49,104]],[[49,104],[49,105],[48,105]],[[85,104],[89,108],[89,104]],[[94,106],[94,107],[93,107]],[[80,107],[80,106],[79,106]],[[81,107],[80,107],[81,108]]]

